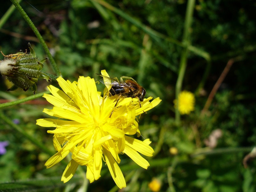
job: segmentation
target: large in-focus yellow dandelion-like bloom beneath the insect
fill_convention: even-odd
[[[105,72],[105,70],[103,71]],[[108,76],[105,72],[104,76]],[[119,188],[126,187],[123,173],[118,164],[120,153],[128,155],[135,163],[147,169],[149,163],[140,156],[152,156],[151,141],[140,141],[129,137],[139,132],[135,117],[161,101],[159,98],[149,102],[152,97],[144,99],[141,107],[136,98],[121,98],[117,105],[117,97],[101,96],[97,91],[94,79],[80,76],[77,82],[57,79],[63,91],[50,85],[52,95],[44,94],[44,98],[54,107],[44,109],[44,113],[62,119],[38,119],[37,123],[44,127],[56,127],[53,133],[53,144],[58,152],[46,163],[47,168],[59,163],[69,152],[72,159],[68,163],[61,180],[65,183],[75,174],[78,165],[86,165],[86,178],[93,182],[100,178],[102,160],[106,162],[110,174]],[[114,109],[116,105],[116,108]],[[112,115],[111,115],[112,113]],[[111,116],[111,117],[110,117]],[[139,152],[139,153],[138,153]]]

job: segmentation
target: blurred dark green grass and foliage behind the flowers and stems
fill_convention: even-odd
[[[256,3],[252,0],[195,2],[186,55],[187,68],[182,90],[196,95],[195,111],[175,123],[175,84],[177,81],[184,21],[185,0],[26,0],[20,3],[33,21],[64,79],[79,76],[99,79],[96,73],[106,69],[111,77],[131,76],[147,91],[160,97],[159,106],[143,114],[139,127],[150,138],[155,150],[150,167],[142,170],[122,157],[121,169],[127,180],[124,191],[150,191],[152,178],[161,180],[161,191],[255,191],[255,160],[243,158],[256,140]],[[11,2],[1,4],[1,16]],[[14,11],[0,29],[0,50],[7,55],[28,49],[46,56],[42,46],[20,12]],[[4,56],[1,55],[1,59]],[[230,70],[204,113],[206,100],[226,67]],[[43,71],[54,74],[48,61]],[[0,80],[1,103],[32,95],[32,91],[5,92],[11,85]],[[37,93],[46,90],[39,80]],[[52,82],[51,84],[56,85]],[[103,85],[97,85],[103,90]],[[38,118],[48,117],[43,108],[51,106],[42,98],[26,104],[2,108],[1,113],[23,127],[36,140],[53,150],[52,135],[36,126]],[[214,130],[221,133],[216,146],[205,144]],[[0,119],[0,140],[8,140],[7,153],[0,156],[0,181],[36,180],[36,191],[76,191],[82,181],[73,178],[62,184],[65,164],[44,167],[48,154],[28,141],[12,124]],[[170,150],[177,149],[177,153]],[[175,151],[175,150],[174,150]],[[54,185],[45,178],[56,177]],[[50,182],[51,183],[51,182]],[[4,185],[0,184],[1,186]],[[101,178],[89,184],[88,191],[116,190],[106,167]],[[27,188],[26,188],[27,189]]]

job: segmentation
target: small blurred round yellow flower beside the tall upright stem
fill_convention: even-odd
[[[178,110],[181,115],[189,114],[195,110],[195,96],[188,91],[180,92],[178,96]],[[177,100],[174,100],[174,108],[177,108]]]

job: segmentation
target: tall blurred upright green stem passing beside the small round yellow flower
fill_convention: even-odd
[[[191,31],[191,24],[192,24],[192,19],[193,19],[193,11],[194,11],[194,6],[195,6],[195,0],[189,0],[187,4],[187,10],[186,10],[186,18],[185,18],[185,23],[184,23],[184,32],[183,32],[183,40],[182,43],[185,45],[182,53],[181,53],[181,58],[180,58],[180,70],[178,74],[178,79],[176,82],[176,102],[177,106],[179,106],[179,101],[178,101],[178,96],[181,91],[182,87],[182,82],[184,78],[184,74],[187,68],[187,57],[188,57],[188,47],[190,46],[190,31]],[[175,109],[175,122],[176,124],[180,123],[180,112],[178,110],[178,107]]]

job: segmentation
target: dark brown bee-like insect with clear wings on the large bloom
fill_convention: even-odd
[[[109,96],[118,95],[116,105],[121,97],[138,98],[139,103],[140,103],[140,101],[144,100],[144,97],[146,95],[146,90],[142,86],[140,86],[133,78],[123,76],[123,78],[126,78],[126,80],[123,80],[121,77],[120,78],[121,81],[118,81],[117,79],[113,79],[113,78],[110,78],[107,76],[103,76],[100,74],[97,74],[97,75],[102,76],[105,79],[105,82],[104,82],[104,79],[100,79],[101,83],[103,83],[105,85],[112,86],[110,88],[110,90],[108,91]],[[116,107],[116,105],[115,105],[115,107]],[[140,105],[140,107],[141,107],[141,105]],[[113,111],[112,111],[112,113],[113,113]],[[111,113],[111,115],[112,115],[112,113]]]

